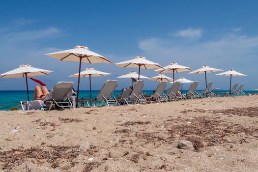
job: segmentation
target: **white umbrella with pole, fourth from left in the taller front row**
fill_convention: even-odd
[[[191,71],[191,70],[192,69],[190,67],[182,66],[182,65],[172,62],[168,66],[163,67],[163,69],[157,69],[154,71],[158,72],[158,73],[173,73],[173,79],[174,79],[174,73]]]

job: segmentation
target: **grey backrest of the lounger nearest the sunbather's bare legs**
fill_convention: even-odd
[[[45,98],[44,101],[55,99],[56,101],[66,100],[71,95],[67,95],[68,92],[72,92],[74,86],[73,82],[58,82],[50,91],[49,95]]]

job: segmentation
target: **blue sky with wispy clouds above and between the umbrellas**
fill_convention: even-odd
[[[114,63],[135,56],[166,66],[171,62],[191,67],[203,65],[235,69],[248,75],[232,77],[244,89],[258,88],[258,1],[256,0],[12,0],[0,1],[0,74],[30,64],[52,70],[34,77],[49,89],[58,81],[73,81],[79,63],[64,62],[45,54],[84,45]],[[119,80],[118,89],[130,86],[130,79],[117,79],[136,68],[113,64],[83,63],[82,69],[112,73],[92,78],[92,88],[100,89],[108,79]],[[218,72],[219,73],[219,72]],[[229,89],[229,77],[207,74],[212,88]],[[158,75],[141,70],[147,77]],[[172,77],[172,73],[166,74]],[[204,89],[204,74],[175,74],[199,81]],[[25,79],[0,79],[0,90],[25,90]],[[29,89],[36,84],[29,80]],[[143,89],[158,83],[145,80]],[[186,89],[190,86],[185,84]],[[77,88],[77,86],[76,86]],[[80,89],[88,89],[88,78]]]

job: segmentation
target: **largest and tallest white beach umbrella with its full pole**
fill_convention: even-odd
[[[85,63],[112,63],[108,58],[101,56],[97,53],[89,51],[87,47],[75,46],[74,49],[59,51],[55,53],[46,54],[47,56],[57,58],[62,61],[77,61],[79,62],[79,76],[78,76],[78,87],[77,87],[77,98],[76,105],[78,107],[79,87],[80,87],[80,72],[81,64]]]

